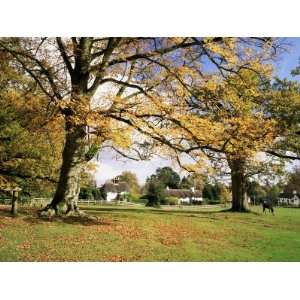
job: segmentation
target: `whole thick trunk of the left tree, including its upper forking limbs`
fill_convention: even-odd
[[[84,118],[77,107],[80,105],[89,106],[90,95],[88,95],[89,67],[91,62],[92,38],[83,37],[80,39],[74,53],[74,68],[68,63],[68,58],[64,54],[64,47],[58,39],[60,51],[71,76],[71,102],[72,105],[63,109],[66,120],[66,138],[62,154],[62,166],[58,185],[51,203],[44,209],[53,209],[58,212],[58,205],[66,204],[69,212],[79,212],[77,203],[80,191],[80,172],[85,159],[85,126],[75,125],[72,117],[80,116]],[[76,105],[75,105],[76,104]],[[84,122],[83,122],[84,123]]]

